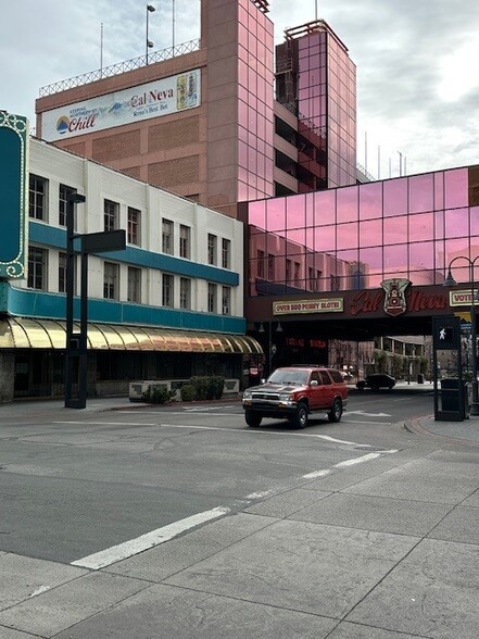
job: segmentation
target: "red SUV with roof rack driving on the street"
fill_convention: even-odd
[[[257,427],[263,417],[289,419],[304,428],[311,413],[327,413],[339,422],[348,403],[348,387],[336,368],[289,366],[277,368],[264,384],[247,388],[242,404],[248,426]]]

